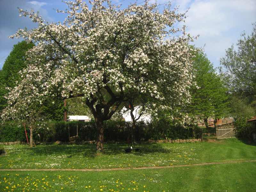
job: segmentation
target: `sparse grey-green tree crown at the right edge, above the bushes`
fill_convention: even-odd
[[[238,40],[237,50],[232,45],[226,50],[226,56],[220,60],[224,68],[220,72],[227,78],[231,92],[243,94],[255,100],[256,95],[256,23],[253,24],[252,34],[242,33]]]

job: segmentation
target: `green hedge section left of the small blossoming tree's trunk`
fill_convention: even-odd
[[[26,128],[29,137],[29,129]],[[18,122],[5,122],[0,125],[0,142],[27,141],[24,127]]]

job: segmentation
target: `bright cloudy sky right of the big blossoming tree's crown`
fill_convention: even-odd
[[[255,0],[176,0],[180,12],[190,7],[186,19],[187,32],[200,35],[196,46],[204,46],[205,52],[215,67],[225,50],[236,44],[242,31],[251,33],[256,19]],[[216,59],[218,58],[218,59]]]

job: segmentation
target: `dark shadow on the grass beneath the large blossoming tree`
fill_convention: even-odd
[[[86,158],[95,158],[96,156],[103,155],[120,155],[125,154],[124,149],[130,148],[127,144],[104,144],[101,153],[96,151],[94,144],[51,144],[51,145],[38,145],[34,148],[28,148],[31,155],[48,156],[48,155],[65,155],[67,158],[73,156],[84,156]],[[136,152],[135,148],[139,151]],[[166,148],[163,144],[140,144],[133,146],[131,153],[136,156],[143,156],[146,154],[157,153],[172,153],[172,148]]]

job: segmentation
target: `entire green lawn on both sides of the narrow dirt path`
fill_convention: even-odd
[[[0,146],[1,147],[1,146]],[[256,162],[211,164],[165,169],[82,171],[1,171],[42,168],[125,168],[256,160],[256,146],[236,139],[180,144],[143,144],[142,153],[124,153],[127,145],[3,146],[0,191],[253,191]]]

